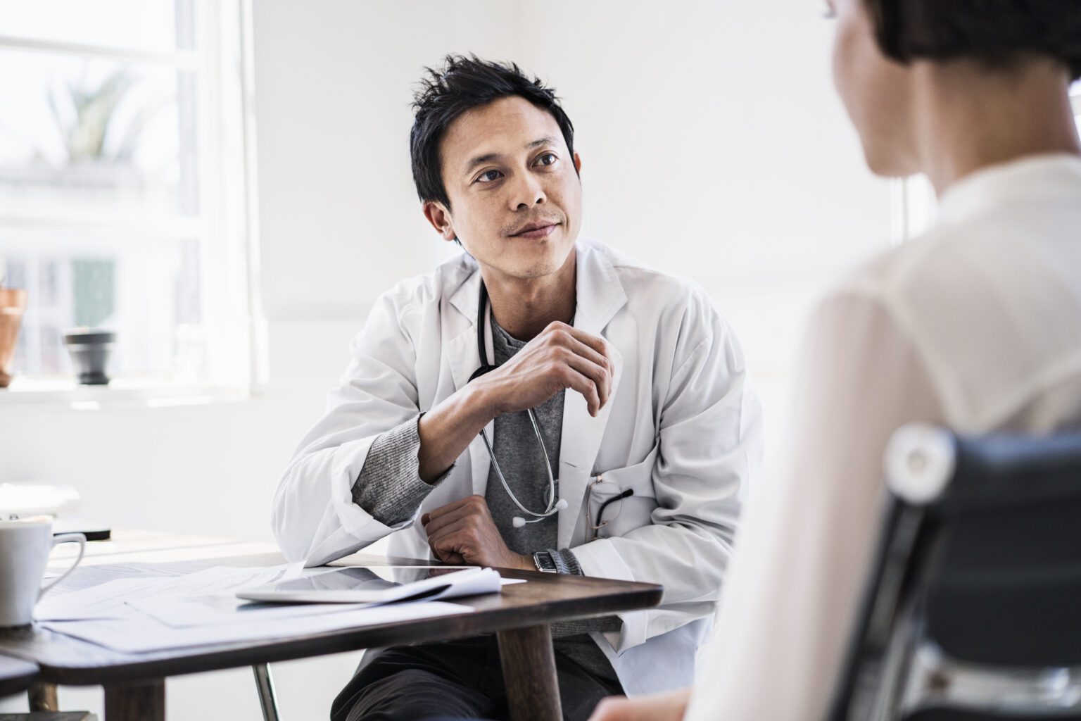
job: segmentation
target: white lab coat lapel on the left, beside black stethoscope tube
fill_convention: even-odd
[[[454,378],[454,389],[461,390],[469,383],[469,377],[480,368],[480,357],[477,350],[477,304],[480,301],[479,269],[475,269],[464,283],[451,294],[450,303],[462,317],[455,318],[448,323],[448,329],[454,330],[449,334],[451,341],[444,346],[448,362],[451,365],[451,376]],[[448,309],[454,313],[454,310]],[[457,315],[455,313],[455,315]],[[495,362],[492,356],[492,323],[491,317],[484,315],[484,349],[488,352],[488,363]],[[461,332],[457,332],[462,329]],[[495,422],[489,423],[485,427],[488,437],[495,444]],[[492,456],[484,446],[484,441],[478,435],[469,443],[469,463],[472,476],[472,492],[477,495],[484,495],[488,489],[488,473],[492,464]]]

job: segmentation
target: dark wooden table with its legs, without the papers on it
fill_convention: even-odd
[[[88,544],[83,565],[186,563],[195,571],[284,562],[270,544],[123,530],[115,530],[112,536],[112,542]],[[54,559],[70,552],[61,547]],[[427,564],[358,553],[332,565]],[[562,715],[549,624],[650,609],[660,602],[662,588],[651,584],[506,569],[499,572],[529,583],[505,586],[497,595],[455,599],[473,610],[461,615],[137,655],[34,626],[0,631],[0,654],[37,664],[39,682],[104,686],[106,721],[152,721],[165,716],[165,677],[496,633],[512,718],[551,721]]]

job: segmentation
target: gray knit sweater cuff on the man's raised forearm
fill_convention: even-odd
[[[372,442],[364,466],[352,484],[352,502],[384,525],[408,521],[454,466],[431,483],[421,480],[421,432],[415,418],[391,428]]]

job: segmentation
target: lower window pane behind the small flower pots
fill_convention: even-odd
[[[109,370],[203,374],[202,272],[196,240],[0,231],[11,288],[25,288],[18,375],[71,373],[63,334],[117,332]]]

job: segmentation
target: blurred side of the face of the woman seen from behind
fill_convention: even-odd
[[[828,0],[837,17],[833,84],[864,147],[871,172],[919,172],[912,122],[912,70],[886,57],[865,0]]]

